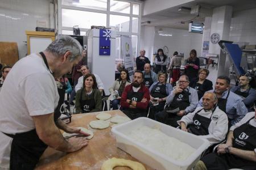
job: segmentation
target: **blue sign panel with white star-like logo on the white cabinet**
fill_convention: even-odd
[[[100,56],[110,56],[110,29],[100,29]]]

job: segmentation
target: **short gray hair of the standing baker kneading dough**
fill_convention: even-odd
[[[56,40],[52,41],[46,50],[47,52],[53,53],[56,57],[62,56],[69,51],[72,54],[69,57],[69,61],[73,61],[82,55],[82,46],[79,41],[68,35],[57,36]]]

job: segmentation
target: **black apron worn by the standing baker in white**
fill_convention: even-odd
[[[49,70],[46,56],[43,52],[40,52],[40,54]],[[13,138],[10,153],[10,169],[34,169],[40,156],[47,148],[47,145],[39,139],[36,129],[6,135]]]

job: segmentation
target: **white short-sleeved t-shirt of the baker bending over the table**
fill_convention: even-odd
[[[59,101],[55,79],[36,54],[15,63],[0,94],[0,131],[9,134],[35,129],[31,116],[53,113]],[[0,169],[9,168],[12,138],[0,132]]]

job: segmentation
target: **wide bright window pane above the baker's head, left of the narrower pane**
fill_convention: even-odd
[[[92,19],[93,16],[93,19]],[[62,26],[79,28],[88,28],[92,25],[101,25],[106,27],[106,14],[79,10],[62,9]]]

